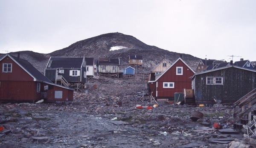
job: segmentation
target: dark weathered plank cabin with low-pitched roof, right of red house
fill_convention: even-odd
[[[221,103],[234,103],[256,88],[256,71],[231,65],[196,73],[192,77],[197,104],[215,104],[213,96]]]

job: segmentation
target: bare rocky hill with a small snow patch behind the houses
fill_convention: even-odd
[[[115,50],[114,50],[115,49]],[[17,52],[10,53],[17,56]],[[61,50],[49,54],[40,54],[33,51],[20,51],[20,57],[28,60],[35,68],[42,73],[47,65],[49,57],[110,57],[120,58],[123,68],[128,66],[129,55],[143,56],[143,73],[148,73],[155,65],[164,58],[172,63],[180,56],[182,59],[195,68],[199,58],[189,54],[167,51],[156,46],[149,46],[133,36],[122,33],[108,33],[96,37],[81,40]],[[0,54],[3,57],[4,54]]]

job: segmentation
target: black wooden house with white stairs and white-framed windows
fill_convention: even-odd
[[[93,67],[93,64],[91,64]],[[91,69],[93,71],[93,68]],[[44,75],[54,83],[86,83],[86,62],[84,57],[50,57]]]

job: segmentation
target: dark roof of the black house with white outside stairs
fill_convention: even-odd
[[[46,68],[81,68],[83,57],[50,57]]]

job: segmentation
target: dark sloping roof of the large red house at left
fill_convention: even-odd
[[[32,64],[30,64],[27,60],[23,60],[8,54],[8,56],[12,57],[18,64],[20,64],[24,70],[29,72],[36,80],[45,81],[48,83],[52,83],[47,77],[45,77],[40,71],[38,71]]]

